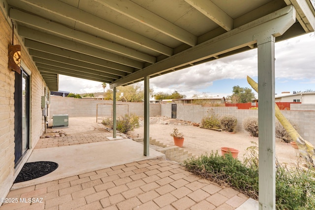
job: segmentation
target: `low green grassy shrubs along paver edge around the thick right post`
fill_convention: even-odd
[[[255,143],[254,143],[255,144]],[[244,162],[213,152],[184,162],[185,167],[195,175],[229,185],[232,188],[258,199],[258,147],[247,150]],[[315,170],[299,167],[288,169],[277,162],[276,167],[276,209],[315,209]]]

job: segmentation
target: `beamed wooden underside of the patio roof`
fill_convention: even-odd
[[[290,4],[297,21],[276,41],[315,28],[310,0],[1,1],[54,91],[58,74],[113,88],[256,48],[252,30]]]

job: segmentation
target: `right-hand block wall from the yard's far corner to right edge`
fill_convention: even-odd
[[[299,107],[300,106],[300,107]],[[315,145],[315,105],[294,104],[296,110],[282,110],[284,117],[292,120],[299,126],[299,134],[302,138]],[[169,104],[161,104],[162,116],[171,117],[172,107]],[[305,111],[303,111],[305,109]],[[202,107],[201,105],[177,104],[177,119],[200,123],[202,118],[214,113],[218,116],[233,115],[237,119],[237,132],[247,132],[243,127],[243,121],[248,117],[258,118],[258,110],[237,109],[236,107]]]

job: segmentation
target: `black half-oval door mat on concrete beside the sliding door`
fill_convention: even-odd
[[[58,168],[58,163],[50,161],[38,161],[25,163],[13,183],[33,180],[45,176]]]

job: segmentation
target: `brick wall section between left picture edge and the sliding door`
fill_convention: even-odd
[[[15,77],[14,72],[7,68],[7,48],[12,35],[2,13],[0,13],[0,28],[0,198],[3,198],[14,179]]]

